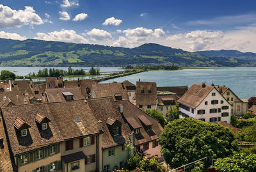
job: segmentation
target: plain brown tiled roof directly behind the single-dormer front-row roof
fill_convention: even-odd
[[[122,83],[92,84],[92,90],[97,98],[122,95],[122,99],[129,100],[127,90]]]

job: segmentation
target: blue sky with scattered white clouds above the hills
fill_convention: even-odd
[[[256,52],[256,1],[0,0],[0,38]]]

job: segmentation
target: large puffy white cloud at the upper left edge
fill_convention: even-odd
[[[12,10],[8,6],[0,4],[0,27],[21,27],[23,25],[43,24],[43,20],[35,13],[31,6],[25,6],[24,10]]]

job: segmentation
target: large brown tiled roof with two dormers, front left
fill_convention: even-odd
[[[60,143],[65,139],[99,133],[97,121],[84,101],[2,107],[13,154],[19,155],[43,146]],[[38,129],[35,121],[37,113],[44,114],[45,118],[51,120],[47,130]],[[28,129],[28,136],[21,137],[13,126],[17,118],[26,121],[31,126]],[[80,120],[79,123],[76,121],[77,118]]]

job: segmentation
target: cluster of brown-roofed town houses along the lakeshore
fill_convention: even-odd
[[[179,105],[179,118],[220,123],[247,111],[248,100],[226,86],[159,87],[156,82],[97,83],[46,77],[0,83],[0,171],[114,171],[127,166],[127,143],[163,162],[163,127],[147,110],[164,117]]]

